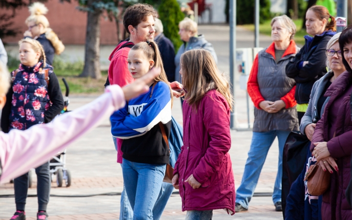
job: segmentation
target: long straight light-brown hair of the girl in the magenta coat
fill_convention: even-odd
[[[227,80],[220,74],[213,56],[205,49],[193,49],[181,55],[182,84],[187,90],[185,100],[197,110],[200,100],[211,89],[226,99],[232,110],[232,94]]]

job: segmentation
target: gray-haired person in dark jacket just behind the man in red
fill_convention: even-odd
[[[155,37],[154,42],[158,44],[161,58],[169,82],[175,81],[175,48],[169,38],[165,37],[163,25],[160,19],[155,19]]]

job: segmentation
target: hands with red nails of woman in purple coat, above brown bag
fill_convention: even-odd
[[[335,159],[330,156],[327,142],[315,142],[314,150],[312,152],[313,156],[320,163],[324,171],[328,170],[331,174],[333,173],[331,167],[338,172],[337,164]],[[330,165],[330,166],[329,166]]]

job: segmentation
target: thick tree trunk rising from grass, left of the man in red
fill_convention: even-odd
[[[88,7],[95,0],[88,0]],[[87,32],[85,48],[85,66],[80,76],[90,76],[94,79],[101,78],[100,72],[100,16],[102,11],[87,12]]]

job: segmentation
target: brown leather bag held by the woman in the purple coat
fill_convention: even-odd
[[[306,173],[304,181],[307,180],[308,193],[312,196],[320,196],[330,187],[331,174],[324,171],[320,163],[311,165]]]

